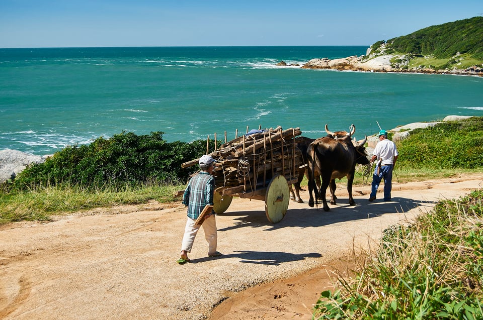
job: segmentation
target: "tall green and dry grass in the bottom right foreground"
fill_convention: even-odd
[[[482,319],[483,191],[384,232],[360,270],[325,291],[315,319]]]

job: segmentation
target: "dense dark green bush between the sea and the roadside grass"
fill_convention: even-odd
[[[109,139],[100,137],[89,145],[68,146],[44,163],[26,168],[10,188],[22,190],[63,183],[112,187],[147,181],[188,180],[198,168],[183,169],[181,164],[203,155],[206,141],[169,143],[163,140],[163,134],[151,132],[138,136],[122,132]]]

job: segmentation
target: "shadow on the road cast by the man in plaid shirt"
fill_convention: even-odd
[[[205,262],[213,259],[238,258],[242,263],[265,264],[278,266],[281,263],[305,260],[305,258],[320,258],[319,253],[293,254],[288,252],[269,252],[269,251],[234,251],[232,254],[224,254],[216,258],[192,259],[191,263]]]

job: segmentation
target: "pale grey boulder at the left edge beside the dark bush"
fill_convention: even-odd
[[[0,150],[0,183],[14,179],[27,165],[42,163],[46,158],[12,149]]]

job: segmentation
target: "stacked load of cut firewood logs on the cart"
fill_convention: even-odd
[[[290,183],[296,180],[295,171],[303,160],[294,139],[301,134],[300,128],[282,130],[279,126],[222,144],[209,154],[217,160],[215,187],[223,187],[224,194],[235,194],[265,188],[277,174]],[[198,164],[198,160],[185,162],[182,167]]]

